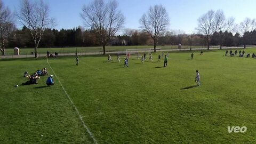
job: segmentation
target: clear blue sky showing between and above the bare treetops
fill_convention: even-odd
[[[11,11],[18,9],[20,0],[2,0]],[[105,0],[108,1],[108,0]],[[83,26],[79,17],[82,6],[92,0],[45,0],[50,5],[51,16],[57,21],[55,29],[73,29]],[[119,9],[125,15],[124,28],[139,29],[139,19],[146,13],[149,6],[162,4],[170,17],[171,30],[183,30],[187,34],[195,33],[197,19],[209,10],[222,9],[226,17],[234,17],[240,23],[246,17],[256,18],[255,0],[117,0]],[[119,33],[122,34],[122,31]]]

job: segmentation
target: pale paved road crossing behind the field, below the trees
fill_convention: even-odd
[[[247,48],[252,48],[252,47],[255,47],[255,46],[246,46],[246,49]],[[230,49],[243,49],[244,47],[243,46],[238,46],[238,47],[223,47],[222,50],[230,50]],[[215,47],[210,47],[210,50],[217,50],[217,49],[220,49],[219,46],[215,46]],[[187,49],[169,49],[169,50],[157,50],[157,52],[166,52],[166,51],[189,51],[190,49],[187,48]],[[196,49],[192,49],[193,51],[194,50],[207,50],[207,47],[203,47],[203,48],[196,48]],[[151,50],[151,52],[153,52],[154,50]],[[137,51],[129,51],[130,53],[137,53]],[[103,54],[103,52],[89,52],[89,53],[78,53],[78,55],[100,55],[100,54]],[[114,52],[106,52],[106,55],[107,54],[126,54],[125,51],[114,51]],[[58,56],[71,56],[71,55],[76,55],[75,53],[59,53]],[[17,59],[17,58],[34,58],[35,55],[33,54],[28,54],[28,55],[1,55],[0,56],[0,59]],[[45,55],[42,55],[42,54],[38,54],[38,57],[46,57],[46,54]]]

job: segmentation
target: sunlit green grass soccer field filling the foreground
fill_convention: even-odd
[[[114,55],[110,63],[107,55],[81,56],[79,66],[75,57],[49,59],[52,69],[45,58],[0,60],[0,143],[256,142],[256,59],[173,52],[163,67],[158,54],[143,64],[131,55],[128,68]],[[54,86],[45,85],[47,76],[21,85],[26,70],[43,67]],[[228,126],[247,131],[228,133]]]

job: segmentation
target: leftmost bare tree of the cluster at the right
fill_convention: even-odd
[[[211,10],[203,14],[202,17],[197,19],[197,22],[198,26],[196,30],[206,36],[207,50],[209,50],[209,38],[216,28],[214,23],[214,11]]]

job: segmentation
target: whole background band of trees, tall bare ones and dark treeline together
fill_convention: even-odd
[[[174,34],[168,31],[170,20],[162,5],[150,6],[139,20],[140,30],[126,29],[123,36],[116,33],[124,24],[125,17],[118,9],[118,3],[93,0],[84,5],[80,13],[86,30],[82,27],[74,29],[51,29],[56,25],[50,17],[49,6],[43,1],[21,0],[19,11],[14,14],[0,0],[0,50],[5,54],[5,44],[9,46],[34,46],[35,57],[40,46],[94,46],[101,45],[103,54],[106,45],[241,45],[256,44],[256,20],[246,18],[239,25],[234,18],[226,18],[222,10],[208,11],[198,18],[196,30],[198,34]],[[22,29],[15,29],[13,18],[17,17]],[[233,33],[236,34],[233,36]],[[125,41],[124,41],[125,40]]]

